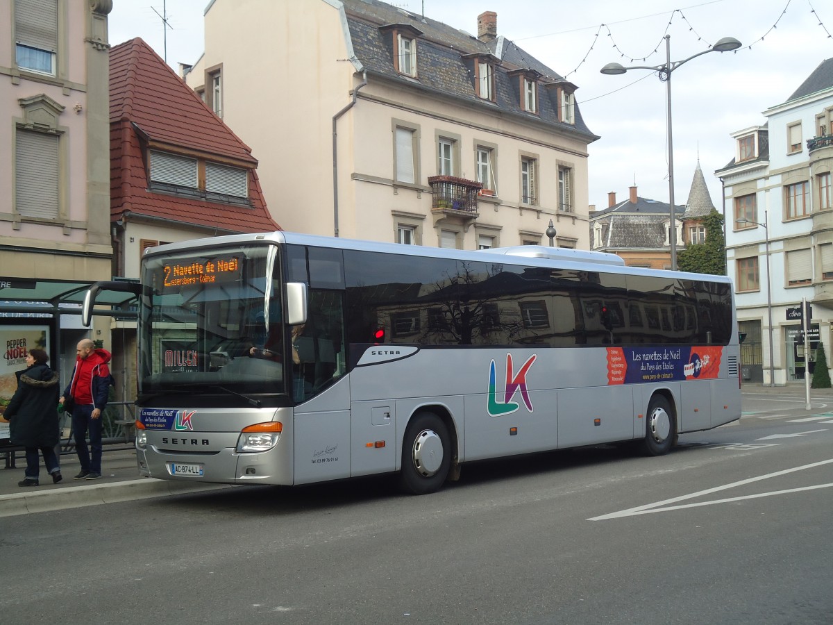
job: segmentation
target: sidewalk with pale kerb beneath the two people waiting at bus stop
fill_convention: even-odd
[[[81,467],[72,452],[61,454],[61,483],[52,483],[41,458],[40,486],[20,487],[17,483],[24,478],[26,458],[22,452],[16,456],[17,468],[7,469],[5,454],[0,453],[0,517],[228,488],[222,484],[142,478],[135,450],[124,443],[104,446],[101,479],[73,480]]]

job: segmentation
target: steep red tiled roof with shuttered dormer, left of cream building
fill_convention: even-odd
[[[231,161],[249,171],[251,207],[155,193],[147,184],[147,142]],[[140,37],[110,50],[110,214],[129,211],[237,233],[280,229],[257,179],[257,159]]]

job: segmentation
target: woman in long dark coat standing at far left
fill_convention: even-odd
[[[26,357],[27,368],[15,373],[17,391],[6,407],[13,445],[26,448],[26,477],[18,486],[37,486],[40,468],[37,450],[43,454],[43,463],[52,474],[52,482],[61,481],[55,446],[60,442],[58,434],[57,399],[60,394],[58,375],[47,365],[49,356],[42,349],[32,349]]]

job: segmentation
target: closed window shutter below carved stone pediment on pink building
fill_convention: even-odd
[[[15,148],[17,213],[25,217],[58,217],[58,137],[17,130]]]

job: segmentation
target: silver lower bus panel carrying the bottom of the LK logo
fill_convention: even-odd
[[[510,403],[517,407],[513,410],[506,406],[503,393],[491,398],[486,393],[466,395],[467,461],[557,447],[556,391],[531,392],[529,396],[533,406],[531,413],[526,409],[521,393],[510,398]],[[501,410],[506,412],[501,414]]]

